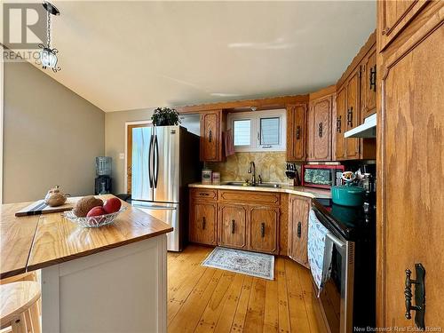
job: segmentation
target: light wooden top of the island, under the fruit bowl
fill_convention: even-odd
[[[98,197],[106,200],[112,196]],[[15,212],[28,203],[0,205],[2,279],[172,231],[171,226],[127,202],[122,202],[127,210],[115,219],[115,223],[99,228],[77,226],[59,212],[15,217]]]

